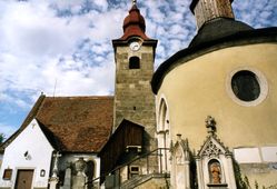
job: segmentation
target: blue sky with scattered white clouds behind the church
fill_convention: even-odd
[[[158,39],[155,68],[197,33],[191,0],[138,0],[146,33]],[[131,0],[0,0],[0,133],[10,137],[41,92],[111,96],[112,39]],[[277,27],[277,0],[235,0],[235,17]]]

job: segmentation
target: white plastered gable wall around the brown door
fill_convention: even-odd
[[[29,157],[24,153],[28,151]],[[13,187],[19,169],[33,169],[32,186],[47,187],[53,148],[48,142],[37,121],[33,120],[4,150],[0,170],[0,188]],[[11,180],[3,180],[4,169],[12,169]],[[44,177],[40,171],[46,170]]]

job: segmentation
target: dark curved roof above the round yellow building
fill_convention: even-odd
[[[205,24],[188,48],[178,51],[158,67],[151,80],[154,93],[158,93],[168,72],[174,70],[179,64],[189,62],[190,60],[196,59],[202,54],[224,48],[277,41],[277,27],[250,29],[250,27],[247,27],[241,22],[239,23],[238,21],[225,22],[225,23],[221,21],[222,19],[217,23]],[[206,27],[211,27],[212,29],[218,30],[218,27],[216,27],[218,24],[227,24],[228,27],[237,28],[234,29],[235,32],[230,32],[229,28],[227,28],[227,30],[224,31],[226,33],[220,33],[218,37],[212,37],[212,32],[207,33],[209,31],[206,30]]]

